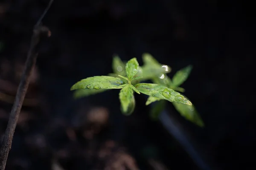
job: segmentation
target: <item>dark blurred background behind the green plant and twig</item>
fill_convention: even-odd
[[[49,0],[0,2],[0,135],[20,81],[32,28]],[[221,0],[55,0],[43,20],[52,36],[40,48],[6,170],[252,169],[253,6]],[[182,85],[205,127],[168,103],[152,121],[135,95],[131,116],[119,91],[74,100],[70,87],[112,72],[122,60],[152,54],[172,75],[193,65]],[[250,91],[248,91],[250,90]]]

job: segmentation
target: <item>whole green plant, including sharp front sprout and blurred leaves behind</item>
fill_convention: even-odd
[[[155,107],[151,109],[151,118],[157,118],[159,113],[163,111],[166,101],[169,101],[172,102],[181,116],[198,126],[204,126],[204,122],[194,105],[187,97],[177,92],[185,91],[180,85],[188,78],[192,66],[189,65],[177,71],[170,79],[167,73],[171,71],[171,68],[168,65],[160,64],[150,54],[143,54],[143,63],[143,66],[139,66],[136,58],[132,58],[125,63],[118,56],[114,56],[112,62],[113,73],[108,74],[108,76],[82,79],[74,84],[70,90],[76,90],[74,98],[78,99],[110,89],[121,89],[119,99],[121,111],[125,115],[130,115],[134,111],[135,91],[137,94],[142,93],[149,96],[146,105],[156,102]],[[151,80],[153,84],[140,83],[146,80]]]

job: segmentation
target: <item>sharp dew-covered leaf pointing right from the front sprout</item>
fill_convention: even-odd
[[[151,84],[151,83],[140,83],[135,86],[140,93],[148,96],[157,97],[160,99],[168,100],[169,102],[177,102],[186,105],[192,105],[192,103],[182,96],[180,93],[166,88],[163,85]]]

